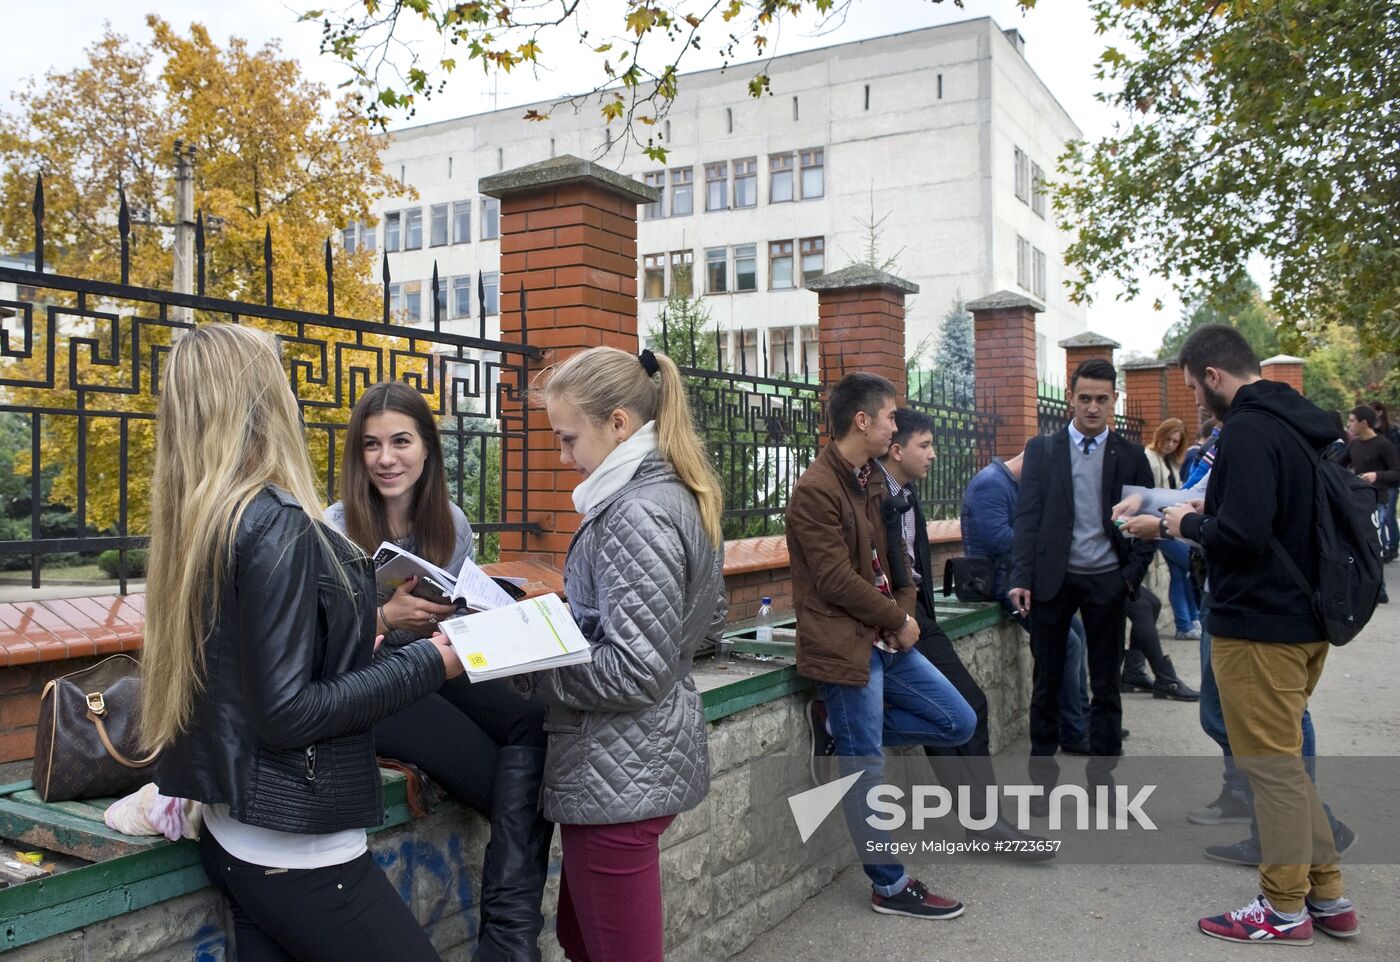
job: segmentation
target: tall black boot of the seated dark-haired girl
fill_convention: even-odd
[[[507,745],[496,760],[491,839],[482,865],[482,928],[472,962],[539,962],[540,900],[554,825],[539,814],[545,749]]]

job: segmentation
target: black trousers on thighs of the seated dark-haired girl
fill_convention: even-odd
[[[374,751],[416,765],[447,793],[491,816],[496,753],[504,745],[545,748],[545,706],[510,679],[472,683],[458,675],[374,727]]]

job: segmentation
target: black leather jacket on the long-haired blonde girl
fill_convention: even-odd
[[[371,563],[329,529],[328,541],[336,557],[286,492],[267,487],[248,506],[204,641],[203,689],[157,762],[162,794],[223,802],[279,832],[384,819],[371,727],[437,690],[442,658],[420,640],[371,660]]]

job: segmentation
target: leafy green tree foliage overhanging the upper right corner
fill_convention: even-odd
[[[1400,347],[1400,17],[1394,0],[1093,0],[1099,99],[1128,119],[1072,143],[1054,203],[1075,300],[1141,272],[1187,294],[1273,270],[1289,326]]]

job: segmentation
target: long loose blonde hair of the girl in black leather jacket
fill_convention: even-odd
[[[189,724],[234,532],[266,485],[287,490],[321,520],[277,339],[231,323],[185,332],[165,361],[155,407],[141,655],[147,749],[168,745]],[[315,528],[325,538],[323,525]]]

